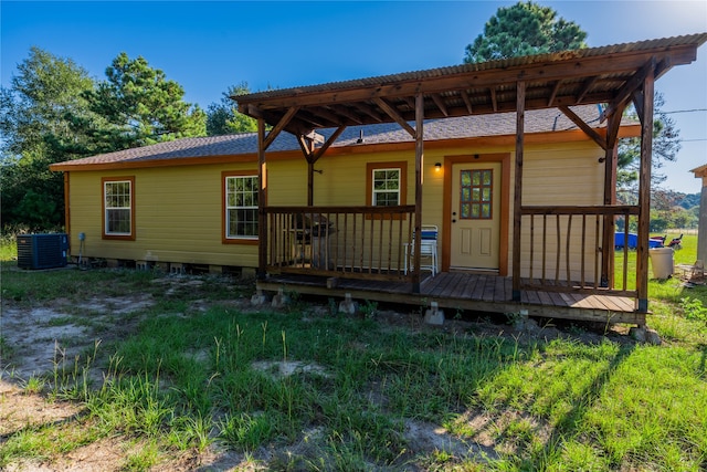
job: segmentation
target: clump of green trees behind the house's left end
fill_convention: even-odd
[[[62,224],[63,177],[54,162],[205,135],[205,114],[183,102],[183,88],[143,57],[119,54],[96,83],[70,59],[39,48],[0,90],[4,225]]]

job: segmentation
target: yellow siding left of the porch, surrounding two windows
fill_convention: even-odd
[[[223,244],[221,172],[255,165],[187,166],[70,175],[71,248],[83,255],[135,261],[257,266],[255,245]],[[104,177],[135,176],[135,241],[102,239]]]

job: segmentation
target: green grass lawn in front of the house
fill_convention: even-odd
[[[676,263],[694,262],[694,238]],[[146,283],[151,273],[4,269],[3,297],[8,290],[20,305],[146,290],[165,298]],[[228,284],[208,285],[146,310],[134,335],[96,345],[48,385],[31,379],[28,392],[43,388],[85,413],[8,434],[0,468],[102,438],[131,444],[125,470],[214,442],[244,458],[276,451],[261,463],[270,470],[707,466],[705,286],[650,282],[648,323],[664,338],[651,346],[410,331],[368,313],[316,314],[302,300],[288,313],[243,313],[219,304],[233,296]],[[204,297],[211,308],[189,308]],[[282,375],[288,363],[299,370]],[[106,376],[92,386],[85,376],[96,364]],[[496,450],[487,459],[416,450],[405,436],[411,421],[445,427],[447,441],[492,440]]]

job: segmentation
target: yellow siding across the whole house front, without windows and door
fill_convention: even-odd
[[[514,148],[508,146],[447,148],[425,150],[423,187],[423,223],[443,227],[443,178],[434,162],[445,156],[509,153],[511,155],[509,201],[513,202]],[[566,145],[528,146],[524,165],[524,204],[601,204],[603,165],[601,151],[590,141]],[[315,168],[315,206],[365,206],[367,162],[408,162],[407,203],[414,203],[414,151],[391,151],[325,156]],[[221,172],[252,170],[256,162],[162,167],[134,170],[81,171],[71,174],[71,242],[77,255],[80,232],[86,233],[85,256],[181,262],[194,264],[257,266],[257,249],[247,244],[222,243]],[[136,240],[108,241],[101,238],[102,187],[104,177],[135,176]],[[271,160],[267,165],[268,203],[304,206],[307,202],[307,166],[303,158]],[[513,211],[513,208],[510,208]],[[508,214],[508,241],[513,242],[513,214]],[[581,251],[581,227],[572,227],[571,251]],[[524,240],[527,241],[527,229]],[[593,229],[592,233],[593,235]],[[440,234],[443,238],[443,234]],[[536,247],[538,241],[536,241]],[[555,244],[555,240],[552,241]],[[566,241],[560,244],[564,251]],[[597,243],[591,241],[585,255],[593,260]],[[555,249],[552,245],[548,248]],[[529,243],[523,248],[523,268],[528,275]],[[513,260],[509,248],[508,260]],[[590,254],[591,253],[591,254]],[[536,249],[535,269],[538,268]],[[590,260],[590,259],[588,259]],[[553,265],[555,266],[555,265]],[[564,265],[562,265],[564,268]],[[508,268],[510,272],[513,268]],[[572,269],[578,270],[578,268]]]

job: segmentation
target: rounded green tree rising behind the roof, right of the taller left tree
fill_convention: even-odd
[[[118,54],[106,77],[88,94],[92,112],[105,119],[91,134],[112,150],[207,134],[203,111],[183,102],[181,85],[143,56]]]

